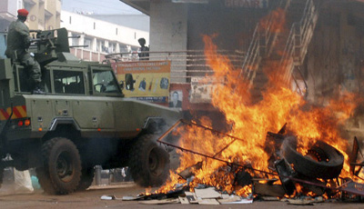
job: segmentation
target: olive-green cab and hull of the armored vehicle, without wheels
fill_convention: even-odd
[[[66,29],[58,30],[61,31],[58,35],[67,35]],[[54,31],[42,32],[38,36],[50,38],[42,39],[37,48],[30,49],[38,52],[35,59],[42,66],[45,95],[24,92],[21,79],[24,67],[15,62],[12,64],[10,59],[0,59],[0,131],[6,141],[0,140],[0,155],[6,153],[4,144],[41,144],[46,134],[56,132],[57,127],[64,124],[71,124],[83,139],[124,140],[133,139],[145,131],[149,118],[162,118],[167,124],[180,119],[175,110],[124,98],[111,65],[78,60],[69,54],[68,43],[64,43],[67,38],[56,37]],[[5,114],[11,114],[11,106],[14,114],[10,125],[3,130]],[[23,123],[26,119],[30,120],[30,125],[18,125],[19,121]],[[86,144],[87,140],[83,143]],[[26,148],[26,145],[22,147],[25,153]]]

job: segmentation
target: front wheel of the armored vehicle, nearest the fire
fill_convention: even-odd
[[[153,134],[141,135],[129,155],[130,173],[144,187],[164,184],[169,174],[169,155],[153,141]]]

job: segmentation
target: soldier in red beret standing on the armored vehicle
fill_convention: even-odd
[[[29,28],[25,25],[29,12],[26,9],[19,9],[17,14],[18,19],[12,22],[8,28],[5,55],[25,66],[25,70],[28,71],[29,85],[33,89],[33,94],[43,94],[44,92],[40,87],[42,81],[40,65],[27,51],[31,44]]]

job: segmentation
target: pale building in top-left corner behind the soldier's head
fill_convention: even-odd
[[[16,19],[16,11],[29,11],[26,25],[30,30],[49,30],[60,26],[61,0],[0,0],[0,31]]]

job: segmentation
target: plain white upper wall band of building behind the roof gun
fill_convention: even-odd
[[[71,18],[71,23],[70,23]],[[94,24],[96,25],[94,29]],[[61,27],[66,27],[68,31],[85,33],[86,38],[100,38],[125,45],[139,46],[137,39],[144,37],[149,44],[149,33],[136,30],[130,27],[110,24],[85,15],[78,15],[62,10]],[[117,35],[116,35],[117,28]]]

